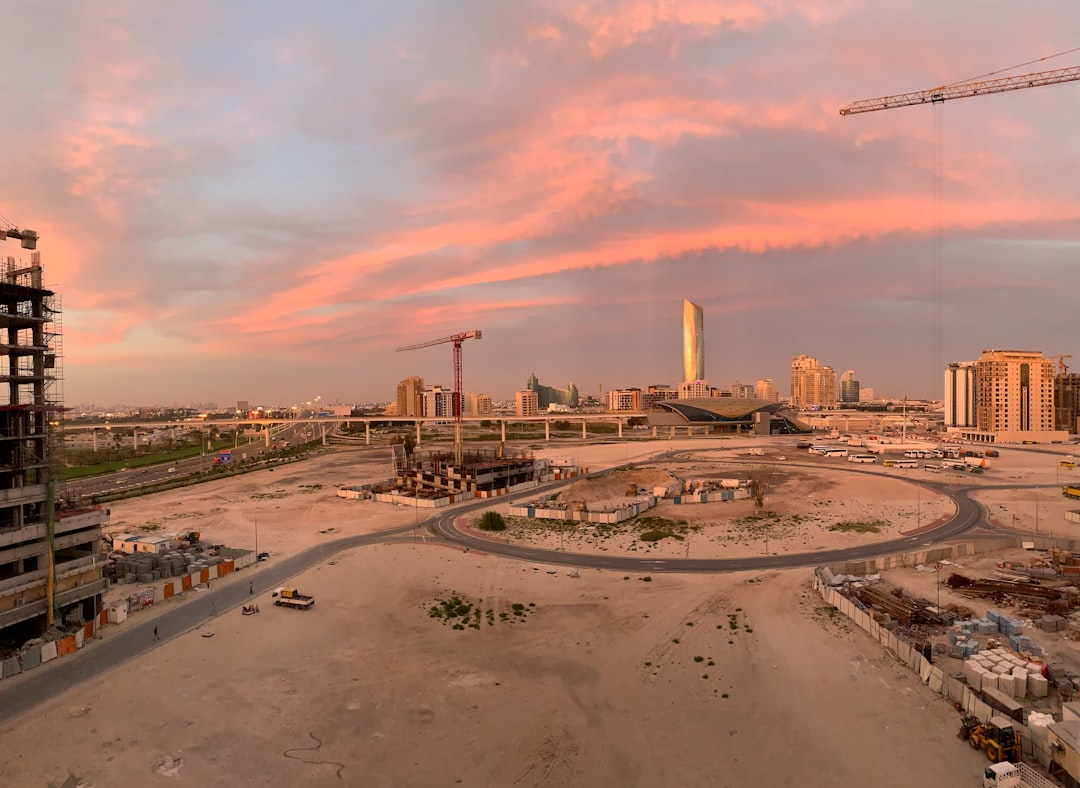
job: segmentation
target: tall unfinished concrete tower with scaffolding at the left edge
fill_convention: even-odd
[[[93,620],[105,589],[107,511],[57,503],[60,311],[41,273],[37,252],[0,260],[0,653]]]

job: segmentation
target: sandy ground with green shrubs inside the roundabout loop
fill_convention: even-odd
[[[880,467],[874,475],[838,473],[851,470],[851,465],[839,460],[814,461],[804,454],[787,452],[783,461],[762,461],[746,458],[741,447],[687,451],[671,462],[581,479],[559,494],[559,500],[568,503],[593,503],[625,498],[634,486],[651,491],[674,477],[715,480],[759,475],[768,484],[764,516],[750,500],[679,505],[664,500],[644,517],[616,527],[513,518],[503,538],[578,553],[734,558],[894,539],[941,522],[956,511],[948,498],[917,484],[922,480],[918,475]],[[509,504],[494,508],[509,516]],[[656,542],[640,540],[643,531],[656,528],[667,529],[673,535]]]

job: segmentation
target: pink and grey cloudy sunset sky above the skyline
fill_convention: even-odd
[[[984,348],[1080,365],[1080,83],[837,112],[1069,50],[1071,0],[4,11],[0,214],[41,233],[72,405],[386,399],[451,382],[396,347],[472,328],[497,398],[677,383],[684,298],[725,388],[786,393],[799,353],[892,396]]]

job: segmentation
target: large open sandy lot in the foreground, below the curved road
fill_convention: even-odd
[[[0,731],[0,784],[976,785],[956,711],[808,580],[355,549],[311,611],[224,611]],[[431,617],[455,594],[478,629]]]

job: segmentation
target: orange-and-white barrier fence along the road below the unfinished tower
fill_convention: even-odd
[[[0,662],[0,680],[10,679],[12,676],[31,670],[39,665],[44,665],[46,662],[52,662],[58,657],[75,654],[86,644],[87,640],[93,639],[99,629],[108,624],[120,624],[126,621],[131,613],[146,610],[154,602],[161,602],[165,599],[179,596],[185,590],[197,585],[208,583],[217,578],[224,578],[238,569],[243,569],[255,563],[257,560],[255,553],[251,551],[230,552],[239,553],[240,555],[229,558],[222,563],[201,569],[192,574],[187,574],[183,578],[173,578],[159,585],[143,588],[109,606],[98,613],[93,621],[83,624],[75,633],[58,640],[28,646],[17,654],[4,658]]]

